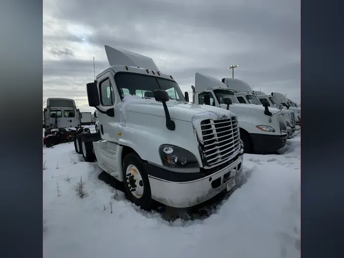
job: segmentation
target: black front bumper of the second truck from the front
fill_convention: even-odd
[[[255,154],[271,154],[282,148],[288,135],[250,134]]]

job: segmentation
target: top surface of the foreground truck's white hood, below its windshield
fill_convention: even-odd
[[[127,97],[127,96],[126,96]],[[194,115],[204,112],[211,112],[218,117],[230,117],[234,115],[225,109],[219,109],[208,105],[196,105],[189,102],[181,102],[170,99],[166,102],[171,119],[192,122]],[[120,112],[124,115],[127,112],[136,112],[146,115],[162,116],[165,117],[164,107],[161,102],[155,99],[143,99],[141,97],[130,97],[129,100],[124,99],[124,104],[120,108]]]

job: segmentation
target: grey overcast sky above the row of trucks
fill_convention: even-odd
[[[151,57],[191,93],[195,72],[232,76],[300,101],[299,0],[44,0],[43,102],[88,106],[86,83],[109,66],[104,45]]]

